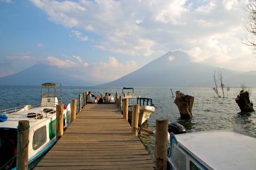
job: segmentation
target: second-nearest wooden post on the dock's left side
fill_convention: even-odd
[[[63,136],[63,105],[56,105],[57,140]]]

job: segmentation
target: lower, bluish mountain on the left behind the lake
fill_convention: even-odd
[[[72,77],[67,69],[46,64],[37,64],[21,72],[0,78],[0,85],[38,86],[45,82],[60,82],[63,86],[93,85]]]

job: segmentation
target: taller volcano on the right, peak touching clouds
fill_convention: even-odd
[[[168,52],[140,69],[101,86],[140,87],[213,87],[213,73],[218,67],[191,62],[180,51]],[[256,72],[238,72],[220,69],[223,84],[229,86],[256,86]],[[218,76],[218,75],[217,75]]]

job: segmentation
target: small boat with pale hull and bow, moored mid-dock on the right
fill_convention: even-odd
[[[152,98],[145,98],[145,97],[130,97],[129,98],[129,105],[128,105],[128,122],[131,124],[132,122],[132,100],[137,100],[137,104],[140,105],[140,114],[139,114],[139,121],[138,125],[141,126],[144,122],[148,120],[151,113],[155,112],[155,107],[153,105]]]

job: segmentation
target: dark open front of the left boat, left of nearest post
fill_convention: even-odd
[[[0,128],[0,167],[12,169],[16,166],[17,129]],[[13,158],[13,159],[12,159]]]

